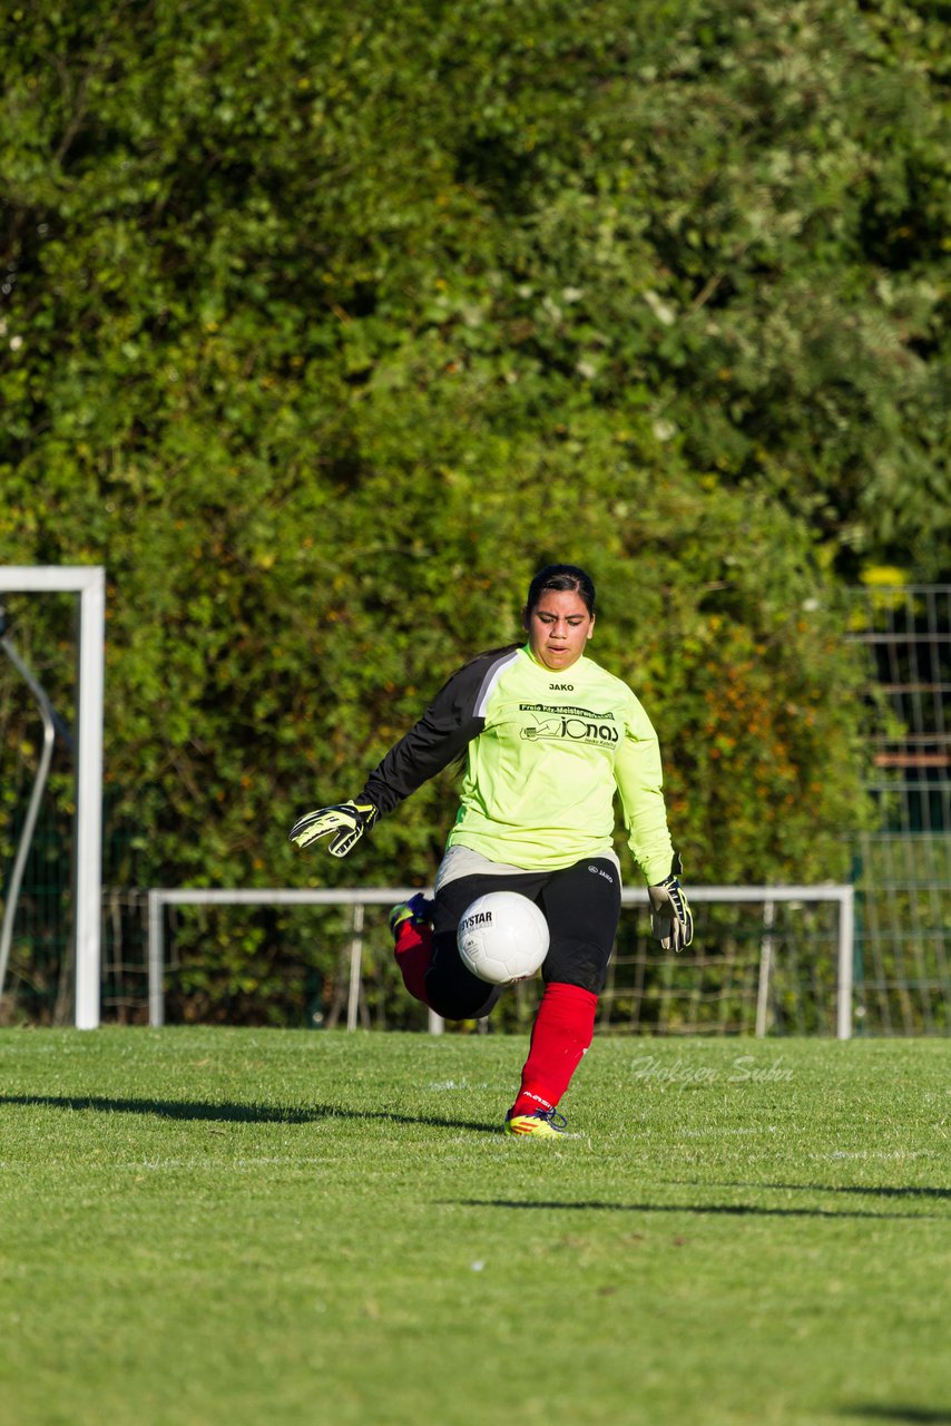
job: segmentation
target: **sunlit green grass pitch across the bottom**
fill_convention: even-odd
[[[0,1032],[0,1423],[951,1422],[947,1041],[523,1051]]]

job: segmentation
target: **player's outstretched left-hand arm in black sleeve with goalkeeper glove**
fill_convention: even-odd
[[[291,841],[307,847],[329,836],[331,854],[345,857],[379,817],[448,767],[478,737],[485,727],[485,717],[476,713],[483,677],[480,660],[459,669],[374,769],[359,796],[305,813],[291,829]]]

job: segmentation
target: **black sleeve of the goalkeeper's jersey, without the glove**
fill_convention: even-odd
[[[502,656],[509,653],[506,650]],[[480,655],[453,673],[419,722],[369,774],[361,799],[372,801],[381,817],[441,773],[479,736],[485,717],[476,716],[475,710],[499,657],[498,652]]]

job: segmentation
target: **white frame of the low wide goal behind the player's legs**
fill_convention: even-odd
[[[346,1028],[356,1030],[361,960],[364,941],[364,907],[396,906],[415,896],[419,887],[354,887],[336,890],[291,890],[287,887],[261,890],[221,890],[207,887],[155,887],[148,893],[148,1022],[165,1022],[165,935],[163,910],[167,906],[349,906],[354,908],[351,930],[349,994]],[[431,894],[426,891],[426,894]],[[689,887],[690,901],[759,903],[764,911],[764,931],[760,945],[760,977],[757,992],[756,1034],[766,1034],[766,1007],[771,974],[773,911],[780,901],[838,904],[837,974],[836,974],[836,1035],[850,1040],[853,1032],[853,938],[855,928],[854,888],[837,883],[821,886],[759,886],[759,887]],[[646,906],[646,888],[622,891],[622,906]],[[439,1034],[442,1020],[429,1012],[429,1030]]]

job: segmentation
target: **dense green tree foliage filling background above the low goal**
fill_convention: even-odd
[[[940,6],[90,0],[4,43],[0,559],[108,569],[143,876],[431,876],[448,779],[354,864],[285,827],[550,558],[689,874],[843,871],[841,583],[950,565]]]

